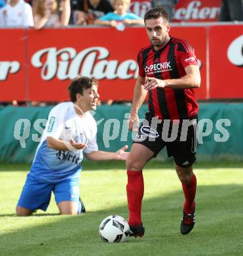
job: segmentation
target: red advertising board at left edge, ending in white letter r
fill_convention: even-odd
[[[25,30],[0,30],[1,101],[26,100]]]

